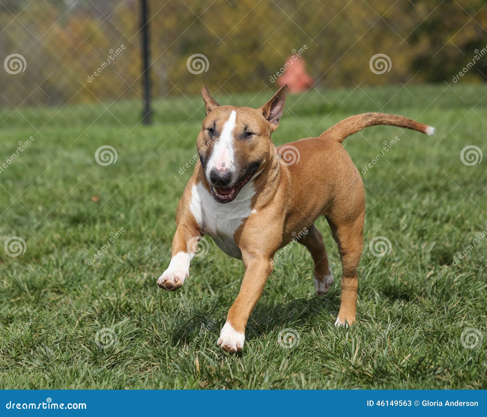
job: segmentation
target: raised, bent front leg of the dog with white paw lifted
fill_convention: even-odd
[[[172,239],[172,258],[168,269],[157,280],[157,285],[168,291],[181,288],[189,276],[189,261],[193,259],[202,237],[194,220],[180,219]]]

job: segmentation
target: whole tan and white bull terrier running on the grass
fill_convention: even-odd
[[[374,125],[434,133],[433,127],[403,116],[365,113],[342,120],[318,137],[276,148],[271,133],[279,127],[286,93],[284,85],[262,107],[253,109],[220,106],[203,87],[206,117],[196,141],[200,160],[177,207],[171,261],[157,281],[169,291],[180,288],[204,235],[244,262],[239,294],[217,342],[226,352],[244,347],[245,326],[272,272],[274,254],[295,236],[313,258],[316,292],[328,293],[333,276],[322,235],[314,225],[319,216],[330,225],[342,265],[335,324],[356,322],[365,193],[341,142]]]

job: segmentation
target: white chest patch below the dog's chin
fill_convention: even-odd
[[[202,183],[193,185],[191,190],[189,208],[198,226],[203,233],[213,238],[220,249],[233,258],[242,259],[242,253],[233,240],[233,235],[250,216],[254,194],[255,187],[252,181],[244,185],[235,200],[226,204],[216,202]]]

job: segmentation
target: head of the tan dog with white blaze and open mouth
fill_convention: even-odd
[[[269,163],[274,150],[270,135],[279,126],[287,85],[259,109],[220,106],[203,87],[206,118],[196,147],[202,168],[219,203],[228,203],[256,172]]]

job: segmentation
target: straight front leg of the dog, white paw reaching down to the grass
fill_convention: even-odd
[[[239,295],[228,310],[225,325],[220,332],[218,344],[226,352],[241,351],[244,347],[245,326],[264,285],[272,272],[272,257],[242,253],[244,279]]]

